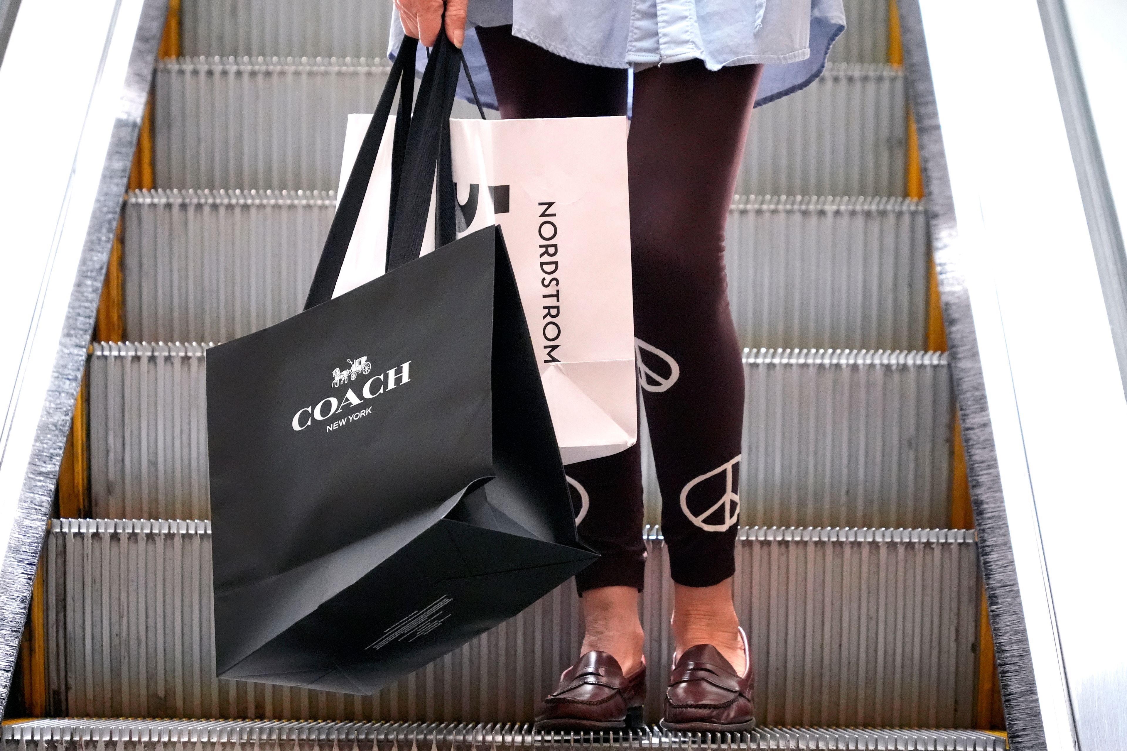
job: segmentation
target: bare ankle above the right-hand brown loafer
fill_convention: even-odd
[[[675,583],[673,602],[673,637],[677,654],[698,644],[711,644],[743,676],[747,658],[737,631],[739,618],[731,600],[731,579],[713,587]]]

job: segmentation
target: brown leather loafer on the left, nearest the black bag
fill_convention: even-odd
[[[646,664],[623,676],[606,652],[587,652],[560,676],[544,699],[536,730],[600,731],[640,727],[646,704]]]

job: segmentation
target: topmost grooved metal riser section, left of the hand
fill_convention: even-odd
[[[180,0],[181,50],[189,56],[383,57],[392,12],[392,2],[372,0]]]

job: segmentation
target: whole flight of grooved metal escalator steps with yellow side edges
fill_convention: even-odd
[[[60,491],[32,606],[42,643],[20,665],[42,671],[39,704],[24,697],[42,716],[7,721],[5,744],[1008,748],[991,730],[978,537],[952,528],[973,526],[952,363],[884,0],[848,0],[850,29],[825,75],[755,111],[729,213],[747,393],[736,608],[761,727],[533,733],[538,701],[582,640],[570,583],[374,696],[214,676],[204,351],[301,310],[332,218],[345,116],[370,111],[387,75],[389,11],[375,0],[172,2],[147,164],[134,169],[151,177],[125,198],[72,438],[88,484],[70,500]],[[647,661],[663,665],[672,585],[648,452],[644,474],[642,623]],[[651,725],[664,680],[651,671]]]

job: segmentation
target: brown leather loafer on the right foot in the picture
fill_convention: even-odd
[[[743,676],[711,644],[685,650],[669,674],[662,727],[701,733],[755,727],[752,653],[743,628],[739,636],[747,662]]]

